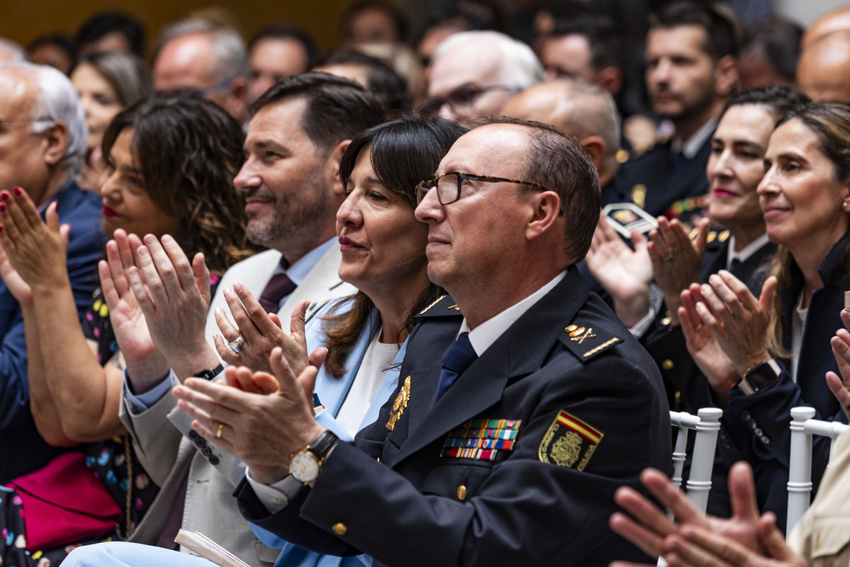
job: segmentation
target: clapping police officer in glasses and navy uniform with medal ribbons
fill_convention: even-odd
[[[655,364],[573,267],[598,191],[592,162],[556,128],[501,118],[458,139],[416,209],[428,275],[451,298],[423,314],[396,392],[354,444],[309,417],[273,354],[280,412],[260,430],[279,434],[258,454],[237,450],[252,477],[237,490],[246,518],[382,565],[647,560],[609,530],[611,496],[647,466],[671,470],[670,420]],[[439,316],[458,312],[460,326]],[[198,428],[232,415],[223,439],[238,433],[241,411],[223,407],[250,395],[186,384]],[[286,506],[261,502],[258,482]]]

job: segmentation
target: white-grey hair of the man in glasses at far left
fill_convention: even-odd
[[[31,117],[41,120],[31,122],[31,132],[42,133],[54,122],[65,123],[68,142],[59,167],[65,167],[71,173],[71,178],[76,177],[86,156],[88,127],[80,98],[71,81],[61,71],[48,65],[5,61],[0,62],[0,69],[3,68],[26,71],[36,85],[37,98]]]

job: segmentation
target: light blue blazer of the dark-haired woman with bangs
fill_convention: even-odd
[[[331,302],[309,321],[305,331],[309,349],[316,349],[326,343],[322,316],[333,309],[334,305],[339,304],[340,311],[344,312],[346,309],[349,309],[352,303],[351,300],[344,300],[343,303]],[[351,352],[348,353],[348,358],[345,360],[345,374],[339,378],[332,377],[323,366],[319,371],[319,375],[316,377],[315,392],[319,394],[320,403],[325,406],[325,409],[316,416],[316,421],[320,422],[322,427],[330,429],[337,434],[339,439],[343,441],[353,441],[354,438],[339,426],[336,420],[337,413],[339,412],[339,408],[342,407],[343,401],[345,401],[348,389],[351,388],[351,384],[354,382],[354,377],[357,376],[357,371],[360,370],[360,363],[363,361],[366,348],[371,343],[371,339],[375,337],[375,333],[380,326],[381,321],[377,309],[373,309],[369,320],[366,321],[363,332],[360,333],[360,338],[354,344]],[[389,399],[390,394],[393,394],[399,380],[401,360],[405,357],[406,349],[407,341],[405,340],[399,349],[399,354],[395,356],[393,367],[387,371],[387,375],[383,379],[375,400],[372,400],[369,409],[363,417],[363,421],[360,422],[360,428],[358,430],[377,419],[377,414],[381,406]],[[251,524],[251,530],[267,546],[280,548],[280,555],[277,561],[275,561],[275,567],[371,567],[371,556],[365,553],[353,557],[321,555],[320,553],[308,551],[303,547],[297,547],[289,541],[275,536],[271,532],[263,530],[263,528],[254,524]]]

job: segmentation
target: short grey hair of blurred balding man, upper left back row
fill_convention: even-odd
[[[166,43],[178,37],[199,33],[209,36],[215,65],[212,72],[217,81],[232,81],[236,77],[248,77],[248,51],[238,31],[212,20],[189,18],[180,20],[162,31],[156,45],[154,60]]]

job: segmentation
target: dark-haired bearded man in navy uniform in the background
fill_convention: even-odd
[[[687,220],[706,206],[711,133],[738,82],[737,35],[729,14],[691,2],[672,3],[651,20],[647,90],[676,133],[623,163],[617,184],[653,216]]]

